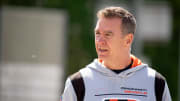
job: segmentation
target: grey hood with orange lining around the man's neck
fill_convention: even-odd
[[[134,55],[131,55],[131,59],[133,60],[133,64],[131,66],[130,69],[127,69],[119,74],[113,72],[112,70],[110,70],[109,68],[107,68],[106,66],[104,66],[102,64],[102,61],[99,59],[95,59],[92,63],[90,63],[87,68],[90,68],[92,70],[95,70],[105,76],[109,76],[109,77],[121,77],[121,78],[126,78],[129,76],[132,76],[133,74],[135,74],[137,71],[148,67],[147,64],[144,64],[141,62],[140,59],[136,58]]]

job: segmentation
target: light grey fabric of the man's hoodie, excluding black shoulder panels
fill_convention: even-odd
[[[108,69],[95,59],[79,71],[85,90],[82,101],[157,101],[155,94],[156,71],[134,59],[133,68],[119,74]],[[165,81],[165,79],[164,79]],[[66,80],[62,101],[78,101],[70,77]],[[167,83],[162,101],[171,101]]]

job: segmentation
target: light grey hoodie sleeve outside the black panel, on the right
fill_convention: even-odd
[[[167,82],[165,83],[162,101],[172,101]]]

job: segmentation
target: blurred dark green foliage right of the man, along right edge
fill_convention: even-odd
[[[178,53],[180,1],[169,0],[173,11],[172,38],[169,43],[146,43],[144,53],[151,58],[153,68],[163,74],[168,82],[173,101],[177,101],[178,94]]]

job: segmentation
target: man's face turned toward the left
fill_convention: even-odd
[[[113,61],[127,53],[126,35],[122,34],[121,19],[99,18],[95,28],[95,46],[99,59]]]

